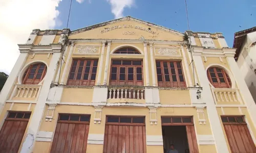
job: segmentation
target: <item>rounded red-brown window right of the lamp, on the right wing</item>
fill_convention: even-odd
[[[231,81],[224,69],[210,67],[207,69],[207,77],[215,88],[231,88]]]

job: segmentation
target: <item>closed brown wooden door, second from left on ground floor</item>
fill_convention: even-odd
[[[51,152],[86,153],[90,116],[61,114]]]

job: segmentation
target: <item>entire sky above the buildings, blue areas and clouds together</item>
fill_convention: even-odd
[[[184,1],[73,0],[68,28],[75,30],[130,15],[185,32],[188,28]],[[0,24],[0,71],[10,73],[19,56],[17,44],[26,43],[33,29],[66,28],[70,2],[71,0],[0,0],[0,22],[4,23]],[[35,7],[38,4],[40,7]],[[229,47],[232,47],[235,32],[256,26],[256,0],[187,0],[187,4],[190,29],[198,32],[221,32]]]

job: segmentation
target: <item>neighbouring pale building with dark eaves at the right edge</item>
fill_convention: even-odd
[[[256,27],[235,33],[233,47],[237,48],[238,67],[256,101]]]

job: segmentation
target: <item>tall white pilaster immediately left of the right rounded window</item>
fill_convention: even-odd
[[[211,131],[214,135],[216,142],[216,150],[217,152],[228,152],[227,143],[224,137],[224,133],[222,131],[221,121],[215,107],[214,97],[211,94],[211,89],[209,87],[207,74],[205,73],[201,53],[202,50],[195,50],[194,52],[195,67],[197,70],[200,85],[203,88],[201,97],[205,100],[206,103]],[[201,111],[199,111],[198,113],[201,113]]]

